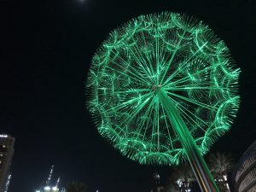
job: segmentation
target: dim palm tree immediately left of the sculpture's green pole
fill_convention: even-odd
[[[195,174],[189,164],[183,164],[172,169],[172,176],[168,179],[166,192],[189,192]]]

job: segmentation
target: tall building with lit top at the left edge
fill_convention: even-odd
[[[10,165],[15,154],[15,138],[0,135],[0,192],[7,192],[10,182]]]

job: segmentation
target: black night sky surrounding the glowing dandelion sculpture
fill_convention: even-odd
[[[0,132],[16,138],[9,192],[30,192],[55,165],[61,186],[149,192],[156,166],[140,166],[112,148],[85,108],[90,59],[116,26],[161,11],[194,15],[230,48],[241,67],[241,108],[211,152],[236,160],[256,136],[256,3],[253,0],[0,0]],[[157,168],[163,177],[170,167]]]

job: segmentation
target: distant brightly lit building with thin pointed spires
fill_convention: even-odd
[[[60,177],[57,179],[55,184],[51,183],[53,170],[54,166],[51,166],[49,177],[46,180],[45,185],[42,186],[40,189],[36,190],[36,192],[65,192],[65,189],[59,189]]]

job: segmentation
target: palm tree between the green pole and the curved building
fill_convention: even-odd
[[[230,154],[217,152],[216,154],[209,155],[210,171],[221,192],[230,192],[227,176],[234,166],[235,163]]]

